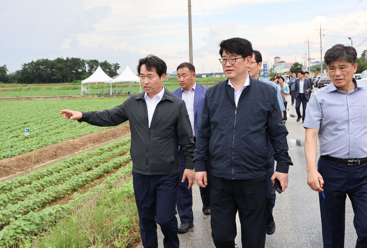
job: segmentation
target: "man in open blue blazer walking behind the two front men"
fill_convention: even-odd
[[[193,64],[184,62],[177,67],[177,80],[180,88],[172,91],[172,93],[179,98],[183,99],[188,109],[191,126],[193,129],[194,142],[198,135],[198,126],[201,113],[204,105],[205,92],[207,87],[197,84],[195,81],[196,73]],[[184,174],[186,167],[186,160],[182,151],[179,152],[179,163],[180,173]],[[209,161],[206,163],[207,171],[210,171]],[[210,175],[210,173],[208,173]],[[210,178],[210,176],[208,176]],[[177,212],[181,224],[178,226],[179,233],[185,233],[189,228],[194,226],[194,215],[193,215],[193,192],[189,189],[189,180],[186,179],[184,182],[178,184],[177,190]],[[210,214],[210,184],[206,188],[200,187],[200,194],[203,202],[203,213],[206,215]]]

